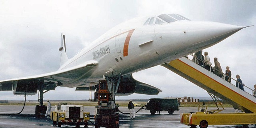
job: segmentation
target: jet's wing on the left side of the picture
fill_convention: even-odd
[[[0,91],[12,90],[14,94],[26,93],[28,95],[34,95],[37,93],[39,85],[42,85],[43,90],[49,90],[62,84],[68,84],[81,76],[86,77],[85,74],[97,64],[98,62],[93,60],[72,68],[58,70],[47,74],[1,80]]]

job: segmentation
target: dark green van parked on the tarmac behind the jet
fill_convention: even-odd
[[[160,102],[160,107],[158,107],[158,101]],[[155,114],[158,109],[160,111],[168,111],[169,114],[173,114],[174,111],[179,110],[177,98],[151,98],[145,107],[144,109],[150,110],[151,114]]]

